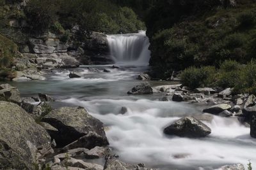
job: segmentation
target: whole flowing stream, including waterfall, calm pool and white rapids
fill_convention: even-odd
[[[110,48],[120,69],[111,66],[81,66],[82,78],[68,78],[72,70],[54,70],[45,81],[12,82],[22,96],[39,92],[58,99],[52,106],[84,106],[106,126],[110,147],[121,160],[161,169],[212,169],[250,159],[256,167],[256,140],[250,129],[236,118],[214,117],[204,122],[212,129],[206,138],[189,139],[165,136],[163,129],[185,115],[201,115],[193,104],[159,101],[162,94],[128,96],[127,91],[141,83],[139,73],[147,71],[148,39],[143,33],[108,36]],[[126,46],[126,47],[125,47]],[[118,50],[118,48],[122,48]],[[128,49],[127,49],[128,48]],[[128,64],[125,64],[127,62]],[[141,66],[134,66],[136,62]],[[130,65],[130,66],[129,66]],[[104,73],[109,69],[110,73]],[[172,82],[149,81],[153,87]],[[127,113],[120,114],[122,107]]]

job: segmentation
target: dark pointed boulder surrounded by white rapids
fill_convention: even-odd
[[[188,138],[200,138],[211,134],[211,129],[200,120],[184,117],[164,129],[164,134]]]

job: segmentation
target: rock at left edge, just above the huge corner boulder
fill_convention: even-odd
[[[0,100],[10,101],[13,103],[20,104],[21,97],[17,87],[12,87],[9,84],[0,85]]]

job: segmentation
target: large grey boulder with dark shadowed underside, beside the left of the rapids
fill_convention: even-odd
[[[58,132],[50,133],[57,147],[91,149],[108,145],[103,123],[89,115],[84,108],[59,108],[46,115],[42,122],[58,129]]]

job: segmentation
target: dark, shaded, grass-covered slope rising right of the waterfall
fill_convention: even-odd
[[[255,5],[246,0],[157,3],[147,20],[153,76],[168,78],[189,66],[252,59]]]

